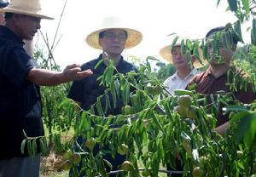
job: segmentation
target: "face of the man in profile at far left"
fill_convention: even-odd
[[[17,33],[21,39],[32,40],[38,29],[41,28],[41,19],[26,14],[15,14]]]

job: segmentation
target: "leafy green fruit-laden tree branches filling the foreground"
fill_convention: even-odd
[[[147,66],[147,64],[140,66],[138,73],[141,79],[137,80],[133,79],[134,72],[126,76],[120,73],[113,75],[114,66],[109,66],[111,69],[107,68],[102,76],[102,83],[108,86],[108,92],[111,92],[113,97],[122,97],[124,105],[130,106],[131,110],[128,113],[102,117],[96,116],[94,111],[90,110],[83,111],[81,116],[75,119],[74,140],[82,135],[84,140],[93,139],[100,147],[100,151],[95,154],[92,151],[94,146],[90,149],[86,148],[86,141],[81,145],[75,145],[78,149],[76,153],[82,157],[81,173],[84,172],[86,176],[99,174],[106,176],[105,168],[106,166],[111,168],[111,164],[103,159],[102,154],[110,153],[114,157],[116,153],[120,153],[119,148],[124,145],[126,150],[122,153],[126,154],[128,164],[131,163],[132,168],[128,171],[123,168],[126,171],[125,174],[130,176],[139,175],[139,169],[148,170],[152,176],[157,176],[160,170],[166,172],[161,168],[165,167],[166,163],[175,168],[176,157],[183,162],[185,175],[191,175],[194,168],[197,170],[199,168],[203,176],[235,176],[255,173],[256,164],[253,160],[256,155],[255,139],[249,135],[255,133],[255,128],[251,126],[250,130],[244,132],[244,129],[238,126],[245,124],[241,127],[247,127],[246,119],[250,119],[250,123],[254,124],[254,114],[247,110],[247,106],[242,106],[238,102],[227,106],[227,113],[230,117],[234,117],[233,126],[225,137],[221,137],[212,132],[216,123],[213,115],[214,111],[218,111],[218,105],[229,99],[228,94],[215,95],[218,100],[215,100],[209,108],[209,106],[200,104],[204,102],[204,98],[202,99],[199,94],[193,91],[177,90],[176,94],[189,94],[191,99],[191,105],[183,106],[179,100],[181,96],[166,96],[162,89],[160,92],[148,90],[148,83],[153,88],[160,84],[155,82],[154,77],[148,78],[151,75],[148,73],[150,68]],[[146,84],[143,82],[145,78],[148,79]],[[136,88],[131,94],[127,94],[130,93],[127,90],[127,84]],[[106,95],[108,94],[103,97]],[[159,100],[160,97],[163,99]],[[99,106],[99,104],[100,102],[97,102],[94,106],[100,110],[98,112],[104,114],[106,109],[102,109],[104,106]],[[108,106],[114,106],[114,104]],[[179,114],[177,106],[183,106],[185,114]],[[194,116],[191,116],[191,111]],[[238,134],[234,136],[234,132]],[[244,137],[252,138],[245,140]],[[107,144],[111,151],[102,149]],[[238,157],[237,151],[242,151],[243,158]],[[138,166],[141,162],[143,164]],[[73,167],[75,166],[76,164],[73,163]],[[74,175],[79,175],[80,172],[76,171]]]

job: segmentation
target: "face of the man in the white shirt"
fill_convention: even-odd
[[[172,49],[172,62],[176,68],[187,68],[185,51],[181,54],[180,46],[175,46]]]

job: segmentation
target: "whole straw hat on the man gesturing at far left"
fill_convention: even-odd
[[[54,18],[46,15],[41,9],[40,0],[11,0],[9,6],[0,9],[3,13],[27,14],[40,19],[53,20]]]

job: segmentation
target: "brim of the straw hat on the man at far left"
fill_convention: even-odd
[[[14,14],[26,14],[26,15],[29,15],[29,16],[37,17],[37,18],[40,18],[40,19],[47,19],[47,20],[54,20],[55,19],[53,17],[50,17],[50,16],[44,14],[44,12],[42,12],[42,11],[34,12],[34,11],[29,11],[27,9],[13,9],[13,8],[6,7],[6,8],[3,8],[3,9],[0,9],[0,12],[2,12],[2,13],[14,13]]]

